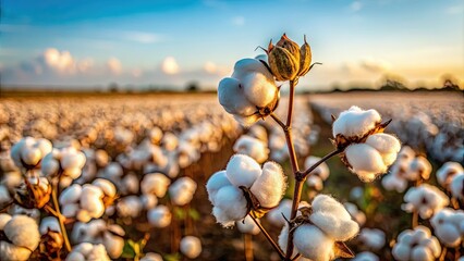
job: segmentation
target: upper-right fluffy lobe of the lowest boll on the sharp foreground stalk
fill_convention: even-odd
[[[337,241],[345,241],[359,231],[359,225],[351,219],[345,208],[327,195],[318,195],[313,200],[313,214],[309,220]]]

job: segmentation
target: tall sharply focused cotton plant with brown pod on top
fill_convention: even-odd
[[[307,170],[301,171],[292,137],[295,88],[298,78],[305,76],[315,64],[320,63],[312,64],[312,50],[306,37],[304,37],[304,44],[298,46],[283,34],[276,45],[271,40],[267,49],[261,49],[267,55],[242,59],[235,63],[232,76],[219,83],[218,99],[223,109],[246,127],[270,116],[283,130],[292,175],[295,179],[290,216],[285,217],[288,232],[284,237],[279,237],[279,244],[277,244],[257,220],[269,210],[277,208],[282,199],[279,192],[268,195],[271,184],[278,184],[278,187],[286,186],[282,185],[285,178],[276,174],[281,172],[279,171],[280,166],[277,163],[267,162],[261,169],[259,163],[253,159],[252,162],[251,158],[244,159],[244,156],[241,154],[232,157],[227,170],[216,173],[207,183],[208,197],[213,204],[213,215],[223,226],[231,226],[234,221],[249,215],[280,258],[285,261],[295,260],[301,256],[303,258],[316,258],[317,260],[321,257],[323,258],[320,260],[353,257],[351,250],[343,244],[344,240],[352,238],[358,232],[357,224],[354,221],[350,223],[352,220],[349,214],[343,211],[340,212],[344,213],[343,216],[346,217],[343,220],[337,215],[326,215],[325,212],[312,214],[309,208],[306,214],[297,216],[297,213],[301,213],[298,208],[303,185],[307,177],[313,174],[313,171],[334,156],[340,156],[342,162],[359,179],[371,182],[386,173],[394,162],[401,144],[393,135],[383,133],[390,121],[382,122],[381,116],[375,110],[364,111],[357,107],[352,107],[342,112],[338,119],[333,116],[332,128],[335,149],[314,162]],[[279,82],[288,82],[290,89],[285,121],[280,120],[274,114],[280,99],[281,86],[278,87]],[[236,149],[236,151],[240,150]],[[265,174],[266,170],[268,170],[267,175]],[[262,203],[264,201],[270,203]],[[334,199],[333,201],[337,202]],[[331,200],[328,200],[326,203],[330,206],[332,204],[330,202]],[[333,206],[338,204],[340,203],[337,202]],[[233,206],[233,211],[231,211],[231,206]],[[344,210],[343,207],[341,209]],[[351,229],[350,233],[345,233],[344,236],[340,236],[343,234],[341,226],[337,226],[340,232],[328,232],[313,225],[314,222],[319,223],[319,225],[323,224],[323,222],[327,222],[326,217],[339,223],[356,224],[356,227]],[[322,225],[322,227],[325,226]],[[325,238],[325,240],[331,243],[333,248],[326,249],[327,252],[319,254],[314,252],[317,251],[317,244],[307,245],[296,240],[296,248],[300,248],[300,251],[293,256],[296,231],[298,231],[300,238],[305,237],[308,233],[316,233],[320,236],[314,236],[314,238]],[[281,244],[283,240],[284,244]]]

